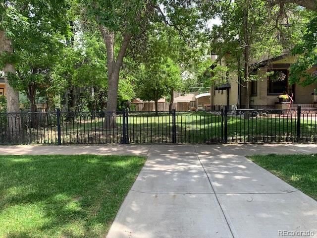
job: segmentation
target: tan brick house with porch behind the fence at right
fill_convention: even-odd
[[[304,108],[314,108],[314,90],[317,83],[306,87],[289,82],[289,70],[296,57],[281,55],[268,58],[253,64],[254,73],[258,74],[258,80],[250,81],[250,108],[287,109],[289,102],[279,102],[278,96],[287,94],[294,100],[292,107],[301,104]],[[268,76],[267,72],[273,73]],[[310,73],[317,73],[317,65],[309,69]],[[278,77],[277,77],[277,76]],[[245,107],[245,83],[239,82],[237,75],[227,75],[227,82],[215,82],[211,86],[211,109],[220,106]],[[218,107],[217,107],[218,106]]]

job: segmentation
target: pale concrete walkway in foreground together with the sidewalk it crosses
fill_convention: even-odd
[[[317,145],[0,146],[0,154],[147,155],[107,238],[317,238],[317,202],[245,157],[270,153]]]

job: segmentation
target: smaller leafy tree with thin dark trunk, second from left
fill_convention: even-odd
[[[38,94],[45,96],[52,83],[57,83],[52,80],[52,72],[55,64],[64,60],[61,54],[64,44],[59,35],[47,36],[33,30],[28,35],[14,51],[16,74],[9,77],[9,83],[25,93],[31,112],[35,113]]]

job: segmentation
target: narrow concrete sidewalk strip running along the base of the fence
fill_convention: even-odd
[[[151,146],[168,148],[177,153],[178,147],[183,145],[0,145],[1,155],[140,155],[146,156]],[[252,155],[252,154],[311,154],[317,153],[317,144],[219,144],[219,145],[195,145],[200,148],[198,151],[201,155]],[[194,148],[194,147],[193,147]],[[196,154],[196,153],[195,153]]]

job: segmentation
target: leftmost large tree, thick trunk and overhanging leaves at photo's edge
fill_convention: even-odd
[[[64,23],[68,6],[68,0],[6,0],[0,3],[0,56],[7,87],[7,112],[19,112],[18,92],[14,83],[8,83],[8,77],[16,74],[15,51],[22,49],[26,40],[31,41],[32,37],[36,39],[39,34],[52,34],[52,31],[42,32],[48,26],[67,31]],[[38,34],[30,34],[32,31]],[[10,137],[18,134],[19,124],[9,122]]]

